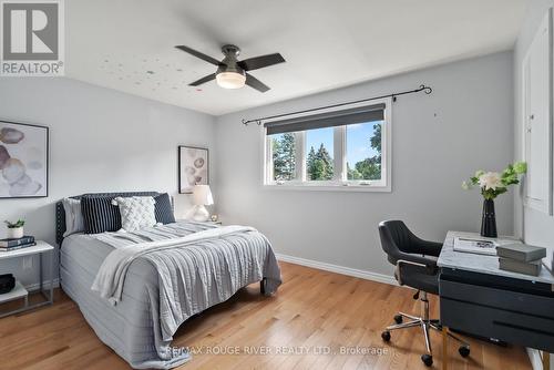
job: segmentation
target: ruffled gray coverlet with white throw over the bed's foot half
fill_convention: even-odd
[[[280,269],[263,234],[247,226],[205,225],[176,223],[99,234],[95,237],[114,249],[101,265],[92,290],[116,304],[123,299],[133,260],[150,261],[158,274],[160,306],[155,311],[164,341],[171,341],[187,318],[227,300],[242,287],[266,278],[266,294],[277,290]]]

